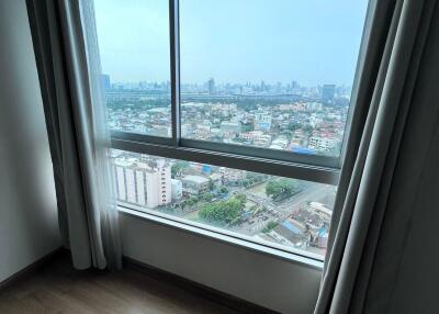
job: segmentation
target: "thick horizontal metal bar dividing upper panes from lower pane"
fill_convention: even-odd
[[[164,145],[151,142],[135,141],[132,138],[113,137],[112,147],[133,153],[236,168],[318,183],[337,184],[339,178],[339,170],[334,168],[249,157],[199,148],[178,147],[166,144]]]

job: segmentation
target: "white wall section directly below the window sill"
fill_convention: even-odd
[[[124,255],[281,313],[312,313],[320,271],[123,214]]]

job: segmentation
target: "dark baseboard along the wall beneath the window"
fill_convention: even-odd
[[[218,291],[216,289],[206,287],[199,282],[192,281],[184,277],[168,272],[166,270],[146,265],[138,260],[132,259],[130,257],[124,257],[124,267],[128,269],[133,269],[135,271],[145,273],[151,278],[157,280],[168,282],[170,284],[180,287],[185,291],[189,291],[193,294],[196,294],[201,298],[211,300],[213,302],[223,304],[232,310],[238,311],[240,313],[251,313],[251,314],[275,314],[272,310],[266,309],[263,306],[254,304],[246,300],[239,299],[237,296],[230,295],[228,293]]]

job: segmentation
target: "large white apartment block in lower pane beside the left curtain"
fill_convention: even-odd
[[[117,157],[113,159],[112,171],[120,201],[154,209],[172,200],[171,167],[164,159],[148,164]]]

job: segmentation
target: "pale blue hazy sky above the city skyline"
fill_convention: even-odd
[[[94,0],[112,81],[169,80],[168,0]],[[367,0],[180,0],[182,82],[351,85]]]

